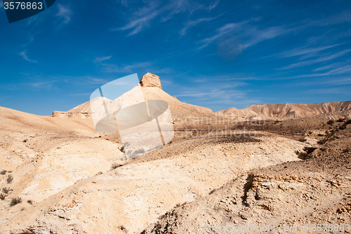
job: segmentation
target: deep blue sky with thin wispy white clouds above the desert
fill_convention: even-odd
[[[66,1],[8,23],[0,105],[66,111],[128,74],[213,111],[351,100],[351,1]]]

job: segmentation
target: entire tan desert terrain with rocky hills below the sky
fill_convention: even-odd
[[[168,103],[173,139],[129,159],[89,101],[53,116],[0,108],[0,233],[351,233],[351,101]]]

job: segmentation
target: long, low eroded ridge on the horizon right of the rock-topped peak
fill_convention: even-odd
[[[312,115],[321,115],[333,112],[347,112],[351,110],[351,100],[334,103],[282,103],[251,105],[249,108],[237,110],[229,108],[216,112],[217,115],[235,115],[241,117],[265,116],[269,119],[295,119]]]

